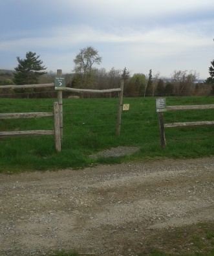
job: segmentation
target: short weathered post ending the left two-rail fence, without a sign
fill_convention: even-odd
[[[60,137],[59,102],[54,102],[54,137],[55,137],[55,148],[58,152],[60,152],[61,137]]]

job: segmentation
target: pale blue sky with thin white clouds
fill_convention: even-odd
[[[209,77],[214,59],[213,0],[0,0],[0,69],[36,52],[47,71],[71,73],[80,49],[102,57],[94,67],[126,67],[170,77]]]

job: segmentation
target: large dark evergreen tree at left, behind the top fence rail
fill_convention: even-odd
[[[43,61],[39,60],[39,55],[36,56],[36,52],[27,52],[25,59],[16,58],[19,64],[15,67],[14,83],[17,85],[37,84],[39,76],[47,73],[44,71],[47,67],[42,65]]]

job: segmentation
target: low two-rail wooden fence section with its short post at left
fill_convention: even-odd
[[[61,139],[59,130],[59,103],[54,102],[53,112],[28,112],[28,113],[0,113],[0,119],[17,118],[39,118],[54,116],[54,130],[29,130],[15,132],[0,132],[0,137],[5,136],[26,136],[26,135],[54,135],[55,147],[58,152],[61,151]]]

